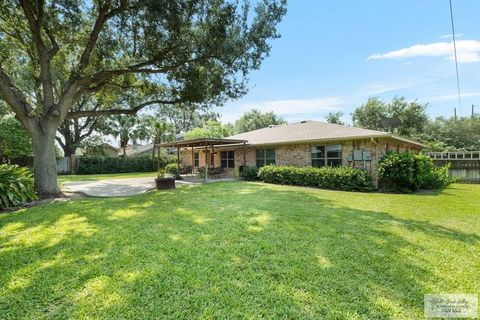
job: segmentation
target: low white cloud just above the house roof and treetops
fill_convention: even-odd
[[[345,100],[340,97],[326,97],[315,99],[271,100],[241,105],[227,105],[217,111],[222,115],[222,122],[234,122],[245,112],[258,109],[262,112],[273,111],[287,121],[297,120],[302,115],[326,113],[340,110],[345,106]],[[303,119],[305,120],[305,119]]]

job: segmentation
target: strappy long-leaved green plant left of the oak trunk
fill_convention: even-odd
[[[34,179],[28,168],[0,165],[0,209],[37,199]]]

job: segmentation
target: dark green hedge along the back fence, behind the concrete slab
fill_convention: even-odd
[[[78,161],[78,174],[157,171],[157,159],[151,157],[82,156]],[[160,167],[165,167],[172,161],[172,157],[161,157]]]

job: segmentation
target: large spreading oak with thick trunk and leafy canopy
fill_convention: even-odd
[[[65,120],[151,105],[220,104],[246,92],[285,0],[0,0],[0,98],[32,138],[37,192],[55,196]],[[85,95],[155,86],[138,105],[75,111]]]

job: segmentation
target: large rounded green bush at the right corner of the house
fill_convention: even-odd
[[[380,189],[387,192],[412,192],[443,189],[453,182],[448,166],[436,168],[433,160],[412,152],[389,152],[377,164]]]

